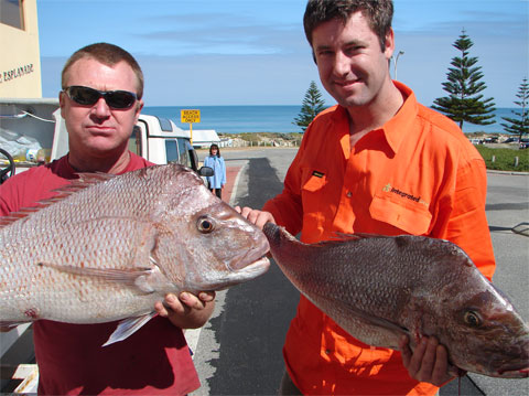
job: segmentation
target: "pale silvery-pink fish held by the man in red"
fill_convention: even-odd
[[[269,268],[259,228],[180,164],[80,174],[42,207],[0,218],[0,325],[154,315],[169,292],[219,290]]]

